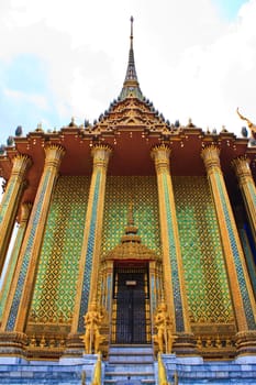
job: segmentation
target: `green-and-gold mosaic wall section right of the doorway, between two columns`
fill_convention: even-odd
[[[193,322],[233,320],[223,252],[205,177],[172,177],[185,280]]]

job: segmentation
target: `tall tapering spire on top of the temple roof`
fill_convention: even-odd
[[[120,99],[123,100],[129,97],[135,97],[143,99],[142,91],[140,89],[137,74],[135,69],[134,52],[133,52],[133,16],[131,16],[131,35],[130,35],[130,51],[129,51],[129,64],[126,76],[124,79],[123,88],[120,94]]]

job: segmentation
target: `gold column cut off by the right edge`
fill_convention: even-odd
[[[235,169],[240,183],[254,242],[256,244],[256,188],[249,168],[249,160],[246,158],[246,156],[240,156],[232,161],[232,166]]]

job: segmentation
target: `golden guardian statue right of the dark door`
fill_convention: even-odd
[[[155,316],[155,326],[157,334],[154,336],[154,341],[158,344],[159,352],[164,353],[165,348],[165,353],[171,353],[172,344],[177,337],[174,334],[174,323],[164,301],[158,306]]]

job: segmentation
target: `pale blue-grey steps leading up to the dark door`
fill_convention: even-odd
[[[131,378],[129,381],[129,377]],[[112,345],[105,363],[104,385],[155,385],[154,356],[151,345]]]

